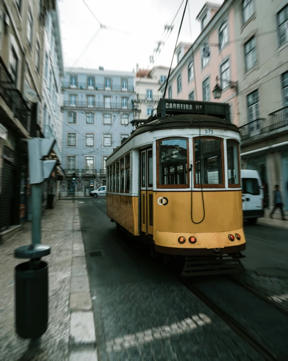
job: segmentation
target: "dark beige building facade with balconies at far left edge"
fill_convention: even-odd
[[[45,21],[55,7],[51,0],[0,3],[0,233],[27,220],[27,139],[37,136]]]

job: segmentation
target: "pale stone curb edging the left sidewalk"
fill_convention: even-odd
[[[97,361],[94,313],[81,232],[78,202],[73,214],[73,249],[70,277],[70,361]]]

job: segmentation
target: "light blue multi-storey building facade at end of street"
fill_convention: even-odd
[[[89,196],[106,184],[106,159],[133,130],[135,73],[70,68],[63,79],[61,194]],[[76,176],[76,186],[71,183]]]

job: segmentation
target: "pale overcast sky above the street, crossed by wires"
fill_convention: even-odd
[[[115,30],[101,29],[85,53],[83,49],[100,27],[83,0],[59,0],[64,66],[132,71],[152,68],[150,56],[159,40],[165,40],[164,25],[171,24],[182,0],[85,0],[97,19]],[[189,0],[179,41],[191,42],[200,32],[195,20],[205,0]],[[213,0],[222,4],[223,0]],[[170,66],[185,1],[174,29],[162,46],[154,65]],[[79,59],[81,57],[81,59]],[[79,59],[79,60],[78,60]],[[77,61],[78,60],[78,61]]]

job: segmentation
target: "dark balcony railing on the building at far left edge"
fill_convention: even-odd
[[[2,58],[0,58],[0,96],[14,113],[23,127],[28,130],[29,108],[20,91],[9,74]]]

